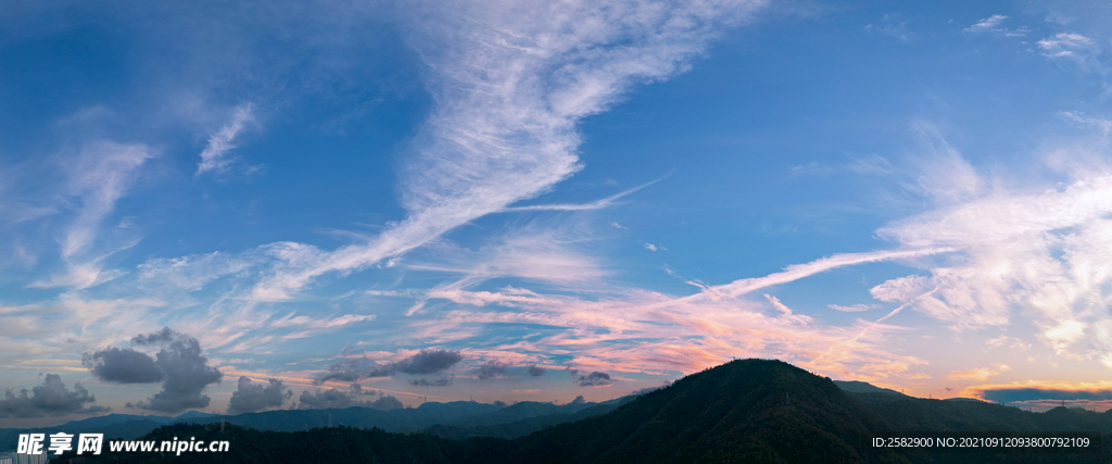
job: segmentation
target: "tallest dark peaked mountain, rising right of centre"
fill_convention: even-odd
[[[512,461],[864,462],[866,441],[892,431],[826,377],[778,361],[738,359],[609,414],[515,441]],[[892,453],[870,457],[906,461]]]

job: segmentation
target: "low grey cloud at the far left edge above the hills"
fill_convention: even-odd
[[[0,399],[0,417],[63,416],[109,411],[102,406],[85,407],[86,403],[96,401],[80,383],[75,383],[71,392],[66,388],[61,376],[47,374],[42,385],[31,388],[31,392],[26,388],[18,395],[11,389],[4,392],[4,398]]]

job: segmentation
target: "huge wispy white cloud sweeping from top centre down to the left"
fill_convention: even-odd
[[[406,219],[366,244],[275,268],[252,302],[284,300],[317,276],[405,254],[533,198],[582,168],[576,124],[639,82],[687,69],[716,27],[763,1],[438,3],[409,41],[436,108],[406,159]]]

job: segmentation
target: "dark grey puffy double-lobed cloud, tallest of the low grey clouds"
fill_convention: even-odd
[[[202,392],[219,384],[224,374],[208,365],[197,338],[169,327],[131,338],[133,346],[160,346],[150,355],[132,348],[106,348],[83,356],[82,363],[95,376],[115,383],[162,382],[162,389],[147,401],[136,403],[141,409],[178,413],[188,408],[205,408],[209,397]]]

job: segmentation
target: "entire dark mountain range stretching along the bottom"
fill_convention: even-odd
[[[217,417],[198,417],[159,426],[142,440],[196,436],[228,441],[231,452],[227,454],[191,454],[187,460],[211,463],[1112,462],[1112,413],[1064,407],[1030,413],[990,403],[914,398],[876,387],[881,392],[850,393],[843,388],[786,363],[742,359],[607,404],[520,403],[498,408],[455,402],[375,413],[358,408],[277,411],[225,417],[225,425]],[[297,430],[297,421],[319,422],[321,417],[331,417],[334,426],[274,431]],[[438,425],[420,426],[421,421],[433,417],[438,417]],[[387,418],[401,431],[416,423],[413,430],[426,433],[399,434],[363,425]],[[350,423],[337,426],[339,421]],[[898,454],[867,445],[877,434],[907,431],[1099,432],[1108,445],[1098,455]],[[187,462],[183,458],[117,453],[87,462]]]

